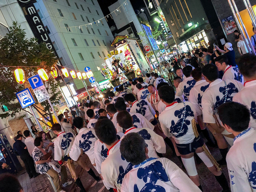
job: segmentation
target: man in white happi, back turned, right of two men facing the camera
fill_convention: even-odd
[[[186,66],[182,69],[184,75],[186,76],[186,79],[184,79],[178,86],[178,88],[176,89],[176,96],[178,97],[182,97],[182,95],[184,94],[184,99],[186,101],[189,100],[189,92],[192,89],[192,87],[194,87],[194,85],[196,84],[196,81],[194,80],[194,78],[191,76],[191,72],[192,72],[192,67],[191,66]]]

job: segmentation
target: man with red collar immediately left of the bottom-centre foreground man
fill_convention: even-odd
[[[108,148],[108,156],[101,164],[103,183],[107,189],[120,191],[124,176],[132,169],[132,164],[121,155],[120,140],[117,139],[116,128],[109,119],[100,119],[94,129],[97,137]]]

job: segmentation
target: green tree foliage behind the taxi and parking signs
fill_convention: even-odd
[[[26,81],[24,84],[18,84],[15,80],[15,67],[0,66],[0,105],[7,106],[9,112],[0,114],[0,117],[15,116],[22,109],[15,93],[25,88],[30,88],[28,78],[37,74],[39,68],[44,68],[50,74],[51,67],[57,62],[57,58],[45,43],[37,43],[37,39],[26,38],[26,32],[21,29],[17,22],[13,22],[13,27],[10,27],[10,33],[0,41],[0,61],[2,66],[22,66],[25,72]],[[36,67],[28,67],[36,66]],[[40,67],[41,66],[41,67]],[[49,76],[48,81],[44,81],[44,85],[48,93],[51,95],[51,102],[58,104],[58,100],[62,97],[58,91],[58,83],[52,76]],[[31,90],[32,91],[32,90]],[[32,91],[33,93],[33,91]],[[50,122],[53,124],[51,108],[47,101],[32,105],[43,118],[50,117]],[[40,120],[40,119],[39,119]]]

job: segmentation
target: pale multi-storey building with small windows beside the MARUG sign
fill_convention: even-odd
[[[88,66],[96,81],[103,80],[97,66],[102,68],[104,58],[113,50],[114,38],[97,0],[37,0],[35,7],[63,66],[80,71]],[[92,25],[85,25],[88,23]],[[82,80],[71,79],[78,93],[84,90]],[[86,84],[90,85],[88,79]]]

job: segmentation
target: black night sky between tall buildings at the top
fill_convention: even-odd
[[[100,5],[100,8],[104,14],[104,16],[108,15],[110,12],[108,10],[108,6],[113,4],[113,3],[116,3],[117,0],[98,0],[98,3]],[[132,6],[133,6],[133,9],[136,10],[140,10],[141,8],[145,7],[145,3],[143,0],[130,0]],[[112,20],[110,17],[108,17],[108,26],[111,27],[115,25],[115,22],[114,20]]]

